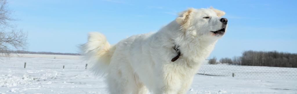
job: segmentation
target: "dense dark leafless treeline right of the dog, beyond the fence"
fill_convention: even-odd
[[[209,64],[229,64],[247,66],[271,66],[297,68],[297,54],[277,51],[244,51],[241,57],[222,58],[217,62],[214,57]]]

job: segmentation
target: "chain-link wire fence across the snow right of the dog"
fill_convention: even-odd
[[[242,66],[242,65],[201,65],[198,74],[209,76],[234,76],[247,79],[297,79],[297,68]]]

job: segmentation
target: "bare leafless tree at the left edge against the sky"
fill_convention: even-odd
[[[11,18],[12,11],[7,8],[7,1],[0,0],[0,56],[9,56],[13,50],[25,49],[27,33],[16,31]]]

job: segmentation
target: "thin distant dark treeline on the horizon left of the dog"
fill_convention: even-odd
[[[54,53],[54,52],[34,52],[34,51],[10,51],[15,54],[54,54],[54,55],[80,55],[78,53]]]

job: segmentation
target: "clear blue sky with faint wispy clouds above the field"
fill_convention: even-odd
[[[296,0],[8,0],[19,29],[29,33],[28,51],[76,53],[87,33],[102,32],[111,44],[156,32],[187,9],[213,6],[226,12],[228,29],[210,57],[242,51],[297,53]]]

